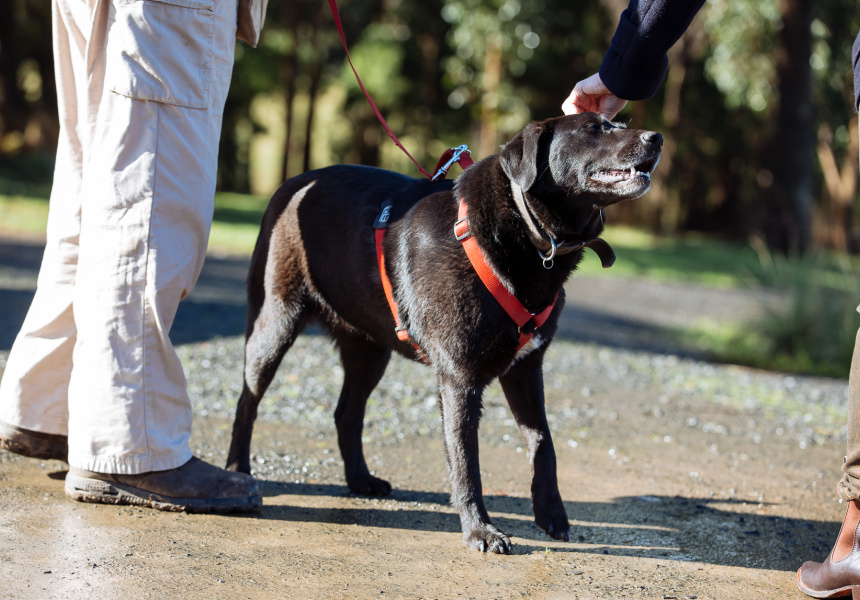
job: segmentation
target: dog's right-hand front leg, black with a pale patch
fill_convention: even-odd
[[[541,361],[539,353],[532,353],[499,377],[499,383],[531,457],[535,523],[550,537],[567,541],[570,523],[558,491],[555,449],[544,406]]]

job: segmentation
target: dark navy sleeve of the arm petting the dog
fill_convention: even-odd
[[[630,0],[600,66],[600,79],[624,100],[650,98],[660,87],[677,42],[705,0]],[[855,46],[855,73],[857,52]]]

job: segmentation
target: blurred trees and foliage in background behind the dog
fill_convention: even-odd
[[[558,115],[573,84],[599,67],[627,0],[340,4],[368,89],[431,168],[446,147],[467,143],[480,159],[529,120]],[[858,28],[854,0],[708,0],[670,53],[657,96],[621,115],[661,131],[666,145],[655,189],[610,219],[860,250]],[[50,0],[6,0],[0,166],[52,151],[56,133]],[[335,162],[416,174],[376,122],[319,0],[271,2],[260,46],[237,46],[220,150],[220,185],[237,191],[261,173],[266,183],[255,185],[267,192]]]

